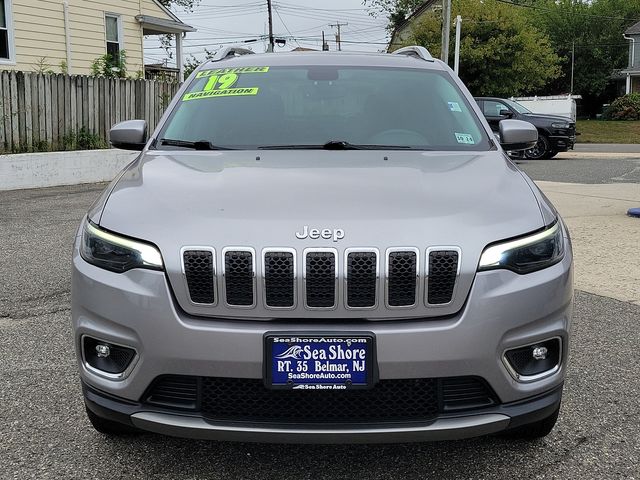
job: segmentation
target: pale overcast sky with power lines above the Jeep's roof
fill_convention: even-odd
[[[386,18],[374,18],[362,0],[273,0],[273,31],[276,38],[286,40],[275,51],[288,51],[296,47],[322,49],[324,30],[330,50],[336,50],[336,28],[341,26],[342,50],[378,51],[388,41]],[[174,12],[188,25],[198,29],[188,33],[184,41],[185,54],[204,58],[204,49],[215,51],[221,46],[239,44],[255,52],[267,47],[266,0],[201,0],[193,12],[175,8]],[[245,40],[256,40],[245,43]],[[156,38],[145,41],[145,63],[160,63],[166,53]],[[174,64],[169,61],[169,64]]]

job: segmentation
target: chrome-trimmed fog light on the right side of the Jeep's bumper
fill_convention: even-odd
[[[533,381],[556,371],[561,358],[562,342],[559,338],[552,338],[507,350],[504,363],[517,380]]]

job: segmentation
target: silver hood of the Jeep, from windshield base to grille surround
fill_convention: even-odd
[[[468,293],[487,244],[544,226],[532,188],[498,151],[148,152],[91,218],[155,243],[172,284],[183,246],[417,247],[422,258],[445,245],[463,252]],[[344,238],[296,238],[305,225]]]

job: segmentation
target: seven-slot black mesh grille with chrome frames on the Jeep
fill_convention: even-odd
[[[427,307],[449,305],[455,296],[461,253],[457,247],[429,248],[421,261],[420,251],[413,247],[390,248],[382,258],[374,248],[349,248],[342,255],[333,248],[300,253],[269,248],[257,257],[261,261],[247,247],[224,248],[218,258],[213,248],[185,247],[189,300],[214,306],[219,291],[221,303],[230,308],[261,303],[290,310],[298,305],[329,310],[340,304],[347,309],[397,309],[416,307],[419,298]],[[222,275],[216,276],[216,262]]]

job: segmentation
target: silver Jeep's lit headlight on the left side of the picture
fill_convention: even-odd
[[[117,273],[132,268],[162,270],[162,256],[153,245],[105,232],[88,221],[82,232],[80,255],[97,267]]]

